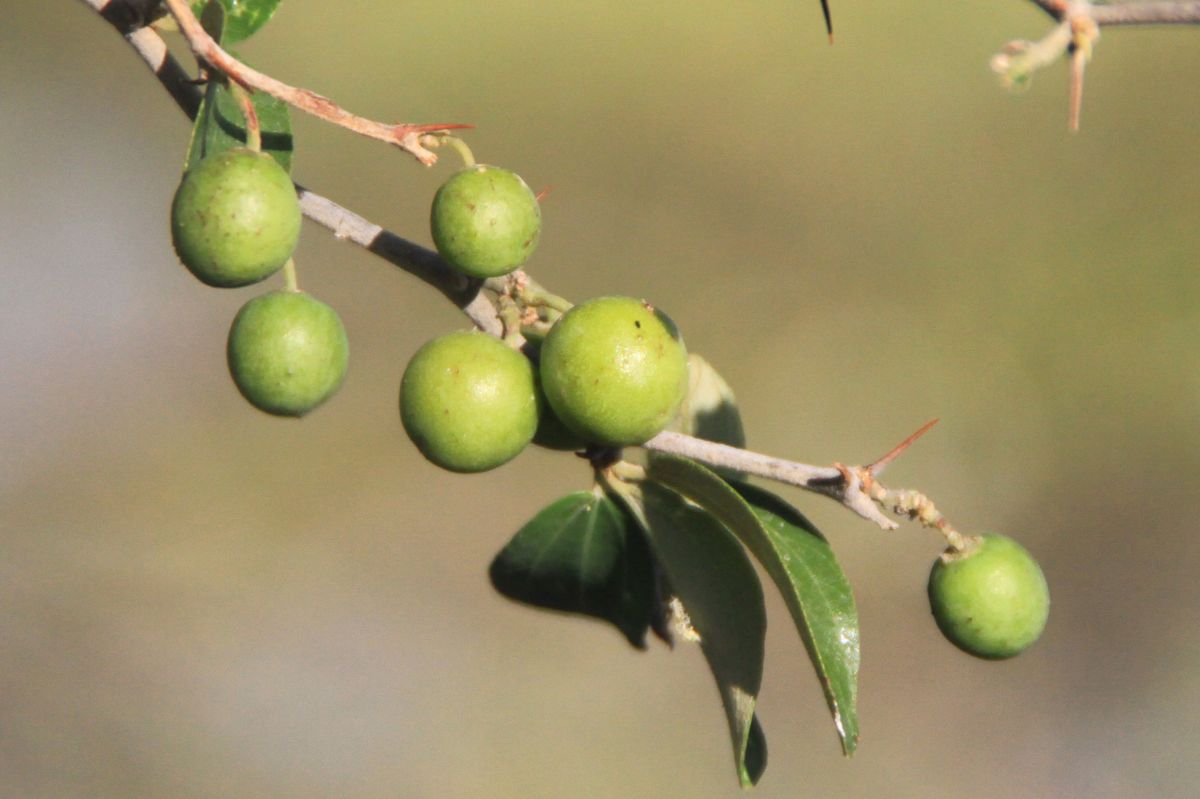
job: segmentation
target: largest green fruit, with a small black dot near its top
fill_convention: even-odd
[[[688,350],[674,323],[641,300],[575,306],[541,348],[541,385],[559,420],[587,441],[642,444],[674,417],[688,390]]]

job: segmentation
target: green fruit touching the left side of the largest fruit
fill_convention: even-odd
[[[400,383],[400,419],[421,453],[450,471],[486,471],[520,455],[538,429],[533,364],[485,332],[439,336]]]

